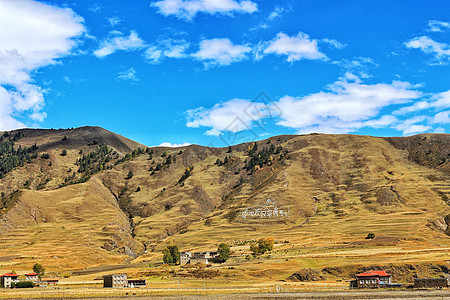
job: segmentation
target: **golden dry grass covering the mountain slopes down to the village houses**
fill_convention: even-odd
[[[86,183],[57,189],[79,150],[92,146],[80,146],[67,132],[70,144],[48,134],[40,149],[50,153],[51,168],[39,159],[0,181],[7,191],[20,190],[0,225],[0,269],[5,272],[26,272],[40,262],[51,274],[66,276],[63,284],[94,284],[101,275],[127,272],[164,286],[178,277],[190,278],[196,286],[198,276],[224,286],[259,286],[314,269],[323,276],[320,284],[347,286],[365,267],[387,268],[394,281],[403,283],[414,276],[442,276],[450,267],[447,163],[419,164],[406,146],[394,147],[387,139],[271,138],[258,148],[281,145],[288,153],[252,174],[243,170],[250,144],[233,146],[231,153],[200,146],[154,148],[151,157],[144,153]],[[422,143],[423,137],[436,138],[424,135]],[[445,144],[449,137],[440,139]],[[23,143],[32,141],[29,136]],[[62,157],[65,148],[68,155]],[[439,153],[432,153],[435,160],[441,159]],[[168,155],[175,161],[166,164]],[[230,163],[215,164],[225,157]],[[158,164],[163,167],[152,174],[149,170]],[[179,183],[192,166],[191,176]],[[129,171],[134,176],[126,179]],[[30,174],[51,180],[43,190],[36,190],[36,184],[21,188]],[[268,198],[289,209],[289,215],[242,218],[243,210],[261,207]],[[375,238],[365,239],[368,233]],[[274,237],[275,249],[250,257],[249,243],[267,236]],[[168,244],[202,251],[221,242],[232,246],[225,264],[206,269],[161,266],[161,250]]]

